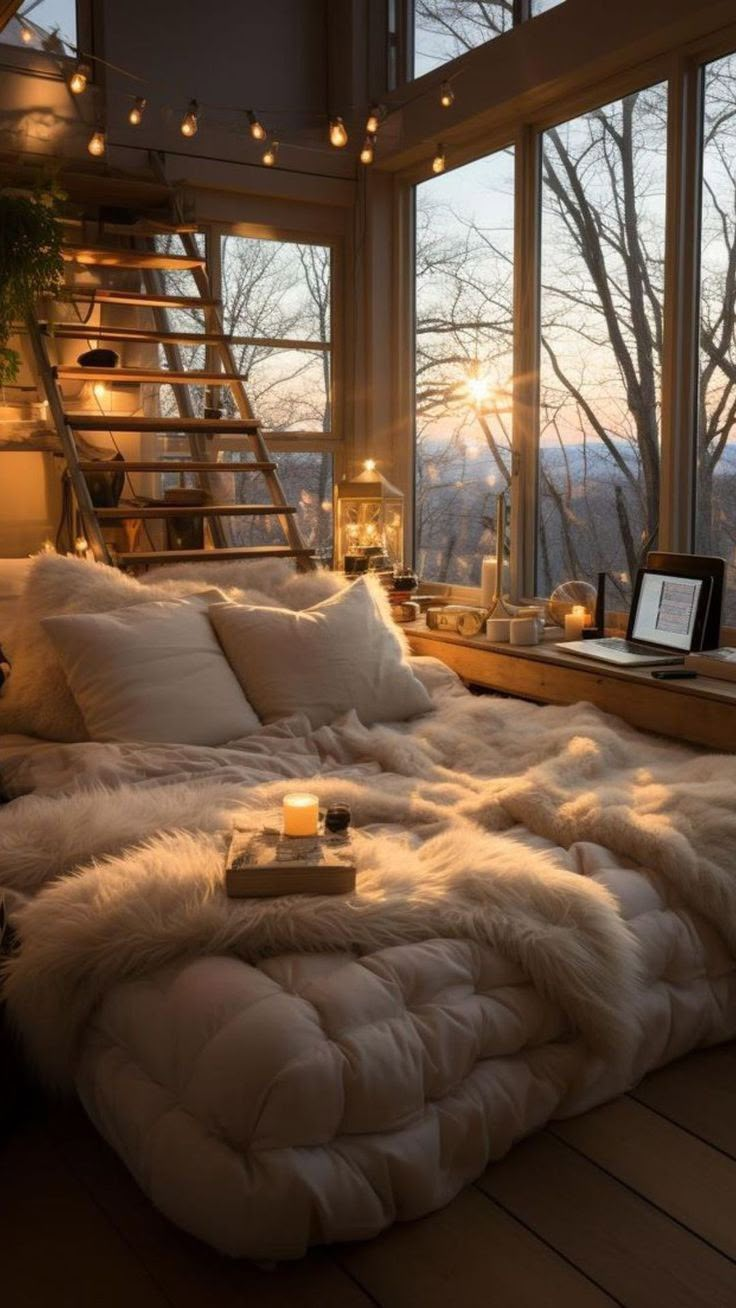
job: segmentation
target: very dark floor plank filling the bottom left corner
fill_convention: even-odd
[[[167,1308],[38,1127],[0,1148],[3,1308]]]

